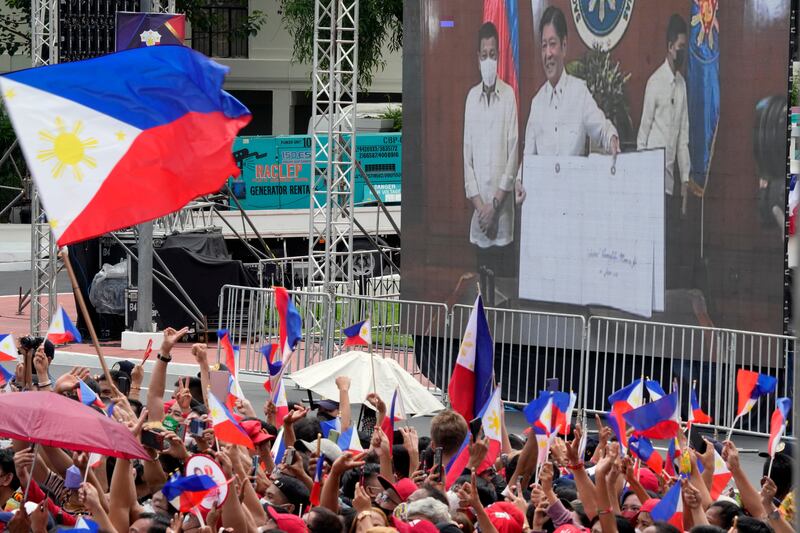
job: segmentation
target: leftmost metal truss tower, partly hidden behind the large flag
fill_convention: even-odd
[[[34,67],[58,62],[58,0],[31,2],[31,62]],[[31,335],[47,331],[56,310],[56,243],[31,183]]]

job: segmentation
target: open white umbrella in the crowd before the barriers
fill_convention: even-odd
[[[294,372],[289,378],[304,389],[309,389],[323,398],[339,398],[336,378],[350,378],[350,401],[365,403],[367,395],[373,392],[372,368],[375,368],[375,388],[386,402],[387,409],[396,388],[400,389],[403,408],[407,413],[432,414],[444,409],[425,386],[409,374],[394,359],[376,357],[366,352],[353,350],[321,363],[316,363]]]

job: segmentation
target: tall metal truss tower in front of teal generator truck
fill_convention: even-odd
[[[357,90],[358,0],[316,0],[308,282],[330,294],[353,289]],[[336,261],[336,253],[350,257]]]

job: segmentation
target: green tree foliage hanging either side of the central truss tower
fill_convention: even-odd
[[[314,0],[280,3],[284,25],[294,39],[292,59],[312,63]],[[358,85],[366,91],[375,73],[386,67],[384,47],[395,52],[403,45],[403,0],[359,0],[358,10]]]

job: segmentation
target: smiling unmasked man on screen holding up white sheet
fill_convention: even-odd
[[[586,138],[606,153],[619,153],[617,129],[597,107],[586,82],[567,74],[567,22],[555,6],[539,21],[542,64],[547,81],[531,103],[525,154],[586,155]]]

